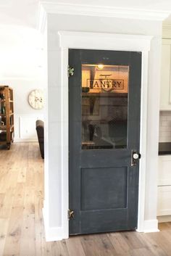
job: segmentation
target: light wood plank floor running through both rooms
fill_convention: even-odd
[[[161,232],[72,236],[46,242],[43,160],[38,144],[0,148],[0,256],[171,256],[171,223]]]

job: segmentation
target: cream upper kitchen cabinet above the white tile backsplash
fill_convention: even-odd
[[[171,39],[162,39],[160,110],[171,110]]]

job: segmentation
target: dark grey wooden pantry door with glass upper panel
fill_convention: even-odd
[[[133,230],[141,52],[69,50],[70,234]]]

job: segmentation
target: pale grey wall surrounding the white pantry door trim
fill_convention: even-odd
[[[155,223],[157,228],[157,159],[159,137],[159,76],[162,22],[146,20],[127,20],[112,17],[86,17],[76,15],[49,14],[48,24],[48,88],[49,88],[49,126],[46,128],[46,148],[49,160],[46,162],[45,184],[46,202],[44,210],[49,228],[62,234],[62,173],[61,173],[61,67],[58,30],[75,30],[101,33],[125,33],[154,36],[149,53],[149,99],[147,124],[147,152],[149,154],[146,170],[145,220]],[[154,94],[155,91],[155,94]],[[55,111],[54,111],[55,110]],[[54,141],[55,138],[55,141]],[[149,207],[150,206],[150,207]],[[146,227],[148,229],[148,227]],[[52,238],[53,239],[53,238]]]

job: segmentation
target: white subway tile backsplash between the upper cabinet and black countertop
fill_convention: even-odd
[[[159,142],[171,142],[171,111],[159,112]]]

